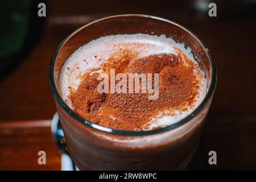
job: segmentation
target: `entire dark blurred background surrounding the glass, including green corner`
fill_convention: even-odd
[[[46,4],[46,17],[38,4]],[[209,3],[217,16],[209,17]],[[148,14],[195,32],[216,60],[218,81],[195,169],[256,169],[256,1],[37,1],[0,2],[0,169],[59,170],[51,136],[56,111],[48,67],[60,42],[94,19]],[[38,151],[47,164],[38,165]],[[217,152],[217,165],[208,152]]]

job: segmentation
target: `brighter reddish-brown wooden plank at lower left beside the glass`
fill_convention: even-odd
[[[0,123],[0,170],[60,170],[60,154],[51,135],[51,120]],[[46,152],[46,165],[38,152]]]

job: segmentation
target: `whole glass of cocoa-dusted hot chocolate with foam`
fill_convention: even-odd
[[[83,169],[184,169],[216,84],[209,50],[184,27],[148,15],[86,24],[49,72],[68,152]]]

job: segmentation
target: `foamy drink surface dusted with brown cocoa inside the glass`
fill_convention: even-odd
[[[191,50],[164,35],[93,40],[68,58],[59,79],[61,97],[71,109],[119,130],[171,125],[191,114],[206,94],[204,74]]]

